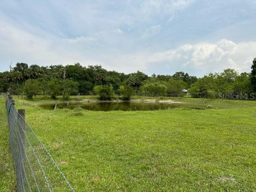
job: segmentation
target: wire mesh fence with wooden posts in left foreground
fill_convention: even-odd
[[[25,121],[25,111],[16,110],[6,98],[9,142],[19,192],[75,192],[44,144]]]

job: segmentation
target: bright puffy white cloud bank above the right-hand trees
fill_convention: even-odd
[[[157,52],[148,60],[148,65],[168,62],[170,65],[182,65],[200,71],[218,72],[225,68],[234,68],[239,72],[249,72],[256,56],[256,42],[234,42],[222,39],[216,43],[183,45],[176,49]],[[151,65],[152,66],[152,65]]]

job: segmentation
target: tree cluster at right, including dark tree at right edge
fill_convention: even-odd
[[[234,69],[209,73],[190,86],[194,97],[218,98],[221,95],[249,95],[256,93],[256,58],[252,61],[251,73],[238,74]]]

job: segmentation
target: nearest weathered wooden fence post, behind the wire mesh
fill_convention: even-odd
[[[25,179],[25,161],[26,161],[26,133],[25,133],[25,110],[18,109],[18,150],[20,150],[19,163],[20,163],[20,174],[22,178],[22,188],[24,189]]]

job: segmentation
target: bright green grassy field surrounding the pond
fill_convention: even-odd
[[[41,98],[14,99],[77,192],[256,191],[255,101],[206,100],[215,108],[209,110],[78,113],[43,110]],[[0,105],[2,111],[3,99]],[[0,187],[12,191],[2,115]]]

